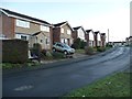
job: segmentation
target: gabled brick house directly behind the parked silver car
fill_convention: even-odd
[[[74,38],[72,37],[73,28],[69,25],[69,23],[66,21],[53,25],[53,43],[61,42],[70,46]]]

